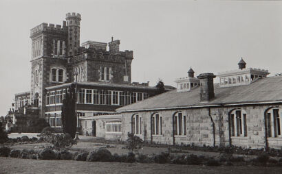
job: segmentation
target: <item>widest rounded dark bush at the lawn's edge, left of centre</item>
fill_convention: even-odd
[[[105,148],[96,149],[91,151],[87,156],[87,161],[89,162],[111,162],[111,152]]]

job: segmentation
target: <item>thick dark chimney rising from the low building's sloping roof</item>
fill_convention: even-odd
[[[203,73],[197,76],[201,84],[200,101],[210,101],[215,98],[215,91],[213,88],[213,78],[216,76],[213,73]]]

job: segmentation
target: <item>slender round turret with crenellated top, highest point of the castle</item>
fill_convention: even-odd
[[[80,20],[79,13],[67,13],[65,20],[67,21],[67,55],[74,55],[78,52],[80,46]]]

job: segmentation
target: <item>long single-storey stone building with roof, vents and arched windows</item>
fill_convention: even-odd
[[[122,140],[133,132],[147,142],[169,145],[282,147],[282,76],[239,69],[176,79],[177,89],[118,108]]]

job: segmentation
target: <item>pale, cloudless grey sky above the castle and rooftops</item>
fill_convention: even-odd
[[[120,40],[133,50],[132,82],[175,78],[247,67],[282,73],[282,1],[1,0],[0,116],[14,94],[30,90],[30,29],[62,25],[67,12],[81,14],[80,43]],[[218,79],[215,79],[218,82]]]

